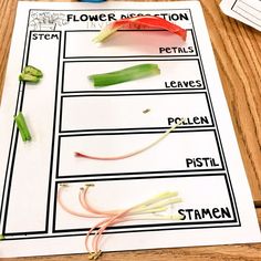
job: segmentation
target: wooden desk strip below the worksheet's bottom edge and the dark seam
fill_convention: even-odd
[[[259,223],[261,226],[261,209],[257,209]],[[195,248],[173,248],[143,251],[124,251],[103,253],[101,261],[258,261],[261,257],[261,243],[195,247]],[[86,261],[87,254],[58,255],[58,257],[33,257],[18,259],[2,259],[4,261]]]

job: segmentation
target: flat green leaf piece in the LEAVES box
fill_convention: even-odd
[[[93,81],[95,87],[103,87],[113,84],[124,83],[137,79],[157,75],[160,70],[157,64],[139,64],[124,70],[114,71],[109,73],[93,74],[88,79]]]

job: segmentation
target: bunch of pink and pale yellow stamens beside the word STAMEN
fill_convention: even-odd
[[[83,217],[83,218],[105,218],[105,220],[102,220],[97,222],[95,226],[93,226],[85,237],[85,247],[87,252],[90,253],[90,259],[97,259],[101,254],[100,250],[100,241],[102,238],[103,232],[109,227],[114,226],[119,222],[129,221],[129,220],[142,220],[142,219],[171,219],[176,220],[180,217],[178,215],[176,216],[165,216],[159,215],[159,212],[163,212],[167,210],[167,206],[171,203],[176,203],[181,201],[180,198],[176,198],[177,192],[163,192],[160,195],[157,195],[142,203],[135,205],[128,209],[125,210],[111,210],[111,211],[102,211],[97,208],[94,208],[88,203],[87,200],[87,191],[92,185],[86,185],[84,188],[80,189],[79,194],[79,200],[82,206],[82,208],[87,211],[87,213],[82,213],[75,210],[72,210],[69,208],[64,201],[63,201],[63,188],[65,186],[60,186],[58,191],[58,201],[61,205],[62,209],[66,212],[76,216],[76,217]],[[149,216],[150,215],[150,216]],[[97,229],[98,228],[98,229]],[[90,236],[93,233],[93,231],[96,230],[95,234],[93,236],[92,241],[92,249],[91,251],[88,247],[88,240]]]

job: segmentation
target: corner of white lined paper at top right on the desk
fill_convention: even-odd
[[[222,0],[220,8],[227,15],[261,31],[261,0]]]

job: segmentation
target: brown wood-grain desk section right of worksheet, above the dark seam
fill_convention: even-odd
[[[261,206],[261,34],[201,0],[255,206]]]

